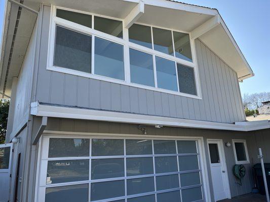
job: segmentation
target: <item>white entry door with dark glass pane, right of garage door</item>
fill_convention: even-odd
[[[222,140],[208,140],[208,151],[215,201],[230,198]]]

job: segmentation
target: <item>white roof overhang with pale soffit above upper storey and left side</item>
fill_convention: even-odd
[[[239,80],[253,76],[253,72],[240,48],[229,32],[216,9],[188,5],[167,0],[24,0],[25,5],[38,10],[40,4],[81,10],[109,17],[127,19],[134,16],[134,22],[150,24],[190,32],[192,38],[199,38],[238,75]],[[143,10],[136,15],[136,7],[143,4]],[[18,15],[18,6],[7,5],[4,40],[0,63],[0,92],[11,94],[12,78],[18,76],[32,33],[36,15],[22,9],[10,68],[12,38]],[[139,8],[139,7],[138,7]],[[132,15],[130,15],[132,13]]]

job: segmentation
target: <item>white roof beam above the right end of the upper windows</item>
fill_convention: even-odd
[[[216,15],[190,32],[190,38],[196,39],[220,24],[220,16]]]

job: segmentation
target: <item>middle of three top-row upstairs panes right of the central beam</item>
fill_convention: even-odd
[[[174,55],[171,30],[153,27],[153,43],[156,51]]]

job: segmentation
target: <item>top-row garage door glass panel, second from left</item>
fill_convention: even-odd
[[[123,139],[92,139],[92,156],[124,155]]]

